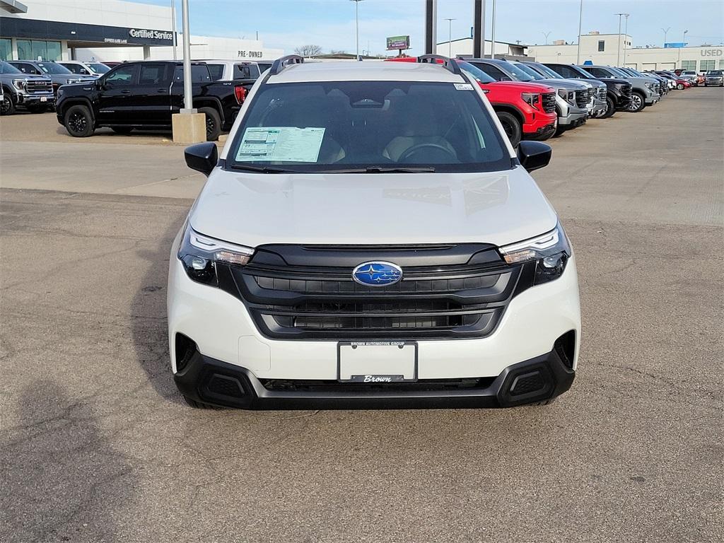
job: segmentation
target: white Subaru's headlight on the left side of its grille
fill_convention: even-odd
[[[251,247],[201,235],[187,223],[177,256],[188,277],[216,287],[219,285],[216,277],[217,263],[244,266],[248,264],[253,254],[254,250]]]

